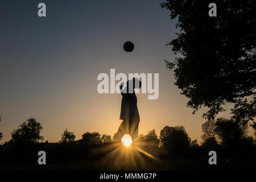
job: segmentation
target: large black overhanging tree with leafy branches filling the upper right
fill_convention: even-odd
[[[255,3],[216,0],[215,18],[208,16],[211,2],[167,0],[160,5],[171,11],[180,29],[168,43],[179,56],[166,61],[166,67],[174,69],[175,85],[193,113],[208,107],[203,117],[213,119],[232,103],[234,117],[248,122],[256,116]]]

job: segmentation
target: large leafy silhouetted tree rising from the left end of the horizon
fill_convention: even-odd
[[[40,136],[43,126],[35,118],[27,119],[17,130],[11,133],[11,142],[39,142],[44,138]]]

